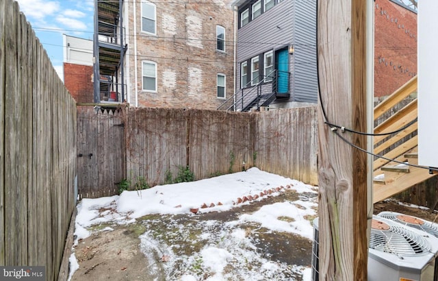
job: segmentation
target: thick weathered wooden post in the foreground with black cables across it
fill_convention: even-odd
[[[320,280],[367,280],[366,0],[318,0]],[[325,113],[322,108],[324,108]]]

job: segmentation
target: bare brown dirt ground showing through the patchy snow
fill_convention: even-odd
[[[302,196],[302,195],[301,195]],[[315,195],[308,195],[315,197]],[[146,231],[153,233],[161,241],[178,244],[175,250],[177,254],[189,255],[199,251],[205,241],[196,240],[194,237],[201,236],[203,221],[219,221],[218,225],[235,221],[240,215],[252,213],[265,204],[273,204],[278,201],[295,201],[298,194],[288,192],[278,197],[270,197],[263,201],[252,202],[226,212],[208,212],[198,215],[174,215],[159,216],[149,215],[137,219],[136,223],[128,225],[95,225],[94,232],[87,239],[79,241],[75,247],[75,256],[79,262],[79,269],[75,271],[72,280],[169,280],[164,273],[164,264],[168,262],[168,256],[158,248],[152,250],[149,257],[140,250],[139,236]],[[420,208],[410,208],[398,204],[397,201],[387,200],[374,205],[374,214],[383,210],[402,212],[407,215],[420,217],[428,221],[434,221],[437,213],[430,213]],[[309,218],[311,220],[313,218]],[[175,225],[187,226],[188,232],[177,232]],[[109,229],[111,231],[104,231]],[[211,232],[219,231],[212,226]],[[246,226],[257,251],[264,256],[288,265],[311,265],[312,241],[295,234],[285,232],[264,232],[257,225],[249,223]],[[167,239],[167,240],[166,240]],[[196,242],[195,242],[196,241]],[[151,258],[153,257],[153,258]],[[181,265],[175,263],[175,274]],[[250,265],[253,266],[253,265]],[[154,270],[151,270],[151,269]],[[181,269],[182,270],[182,269]],[[233,270],[233,269],[230,269]],[[287,280],[301,280],[300,274],[290,271]],[[208,274],[200,277],[200,280],[208,278]],[[177,280],[177,278],[172,280]],[[236,279],[238,280],[238,279]]]

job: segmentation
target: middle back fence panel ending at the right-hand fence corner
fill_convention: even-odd
[[[253,166],[255,114],[190,110],[188,166],[196,179]]]

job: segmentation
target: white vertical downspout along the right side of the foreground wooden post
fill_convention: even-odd
[[[374,0],[367,1],[367,39],[366,39],[366,88],[367,88],[367,131],[372,134],[374,132]],[[367,136],[367,151],[373,151],[373,136]],[[373,213],[373,195],[372,195],[372,183],[373,183],[373,156],[368,154],[367,159],[368,177],[367,177],[367,208],[368,208],[368,244],[370,240],[371,221]]]

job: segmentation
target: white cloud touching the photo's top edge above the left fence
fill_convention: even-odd
[[[18,0],[20,10],[27,17],[34,19],[44,19],[46,16],[55,14],[60,10],[60,2],[44,0]]]

